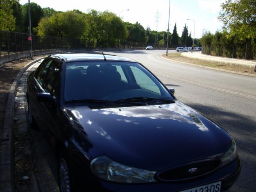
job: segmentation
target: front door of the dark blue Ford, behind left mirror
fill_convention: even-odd
[[[43,91],[50,93],[55,102],[41,103],[41,116],[44,122],[44,133],[48,140],[54,139],[58,135],[58,106],[59,106],[59,89],[60,89],[60,69],[61,62],[54,59],[50,64],[47,75],[43,81]]]

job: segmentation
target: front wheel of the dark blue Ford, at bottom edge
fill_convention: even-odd
[[[65,158],[60,154],[58,163],[58,178],[60,192],[70,192],[70,175],[68,172],[68,165]]]

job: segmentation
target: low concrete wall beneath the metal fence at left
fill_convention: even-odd
[[[37,50],[32,52],[32,56],[54,54],[62,52],[74,52],[74,51],[90,51],[91,49],[52,49],[52,50]],[[0,64],[14,61],[17,59],[23,59],[29,57],[29,52],[13,53],[9,55],[0,56]]]

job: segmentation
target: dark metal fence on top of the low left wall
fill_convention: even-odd
[[[0,56],[29,52],[29,34],[0,30]],[[82,48],[79,39],[32,35],[32,50]]]

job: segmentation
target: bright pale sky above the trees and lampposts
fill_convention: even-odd
[[[20,0],[25,4],[28,0]],[[57,11],[79,9],[87,13],[90,9],[97,11],[111,11],[124,21],[140,23],[146,29],[166,31],[168,29],[169,0],[30,0],[41,7],[51,7]],[[222,23],[217,19],[224,0],[170,0],[170,32],[172,33],[175,23],[177,32],[182,34],[185,23],[188,32],[195,38],[202,37],[204,30],[215,33],[222,29]],[[127,11],[126,9],[129,9]],[[124,10],[124,11],[123,11]],[[158,14],[158,22],[157,21]],[[192,19],[192,20],[187,20]],[[156,25],[157,23],[157,25]]]

